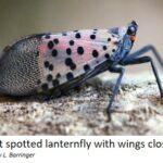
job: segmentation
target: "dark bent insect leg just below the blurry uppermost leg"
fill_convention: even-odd
[[[153,60],[150,57],[141,57],[141,58],[136,58],[136,57],[137,55],[135,55],[135,58],[129,58],[129,59],[126,58],[120,64],[121,65],[129,65],[129,64],[141,64],[141,63],[150,62],[151,66],[152,66],[152,71],[153,71],[155,79],[156,79],[156,83],[158,83],[158,87],[159,87],[159,90],[160,90],[161,98],[163,98],[163,88],[162,88],[162,85],[161,85],[161,79],[159,77],[158,70],[155,67],[155,64],[154,64]]]

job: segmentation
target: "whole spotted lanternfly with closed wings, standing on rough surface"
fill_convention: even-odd
[[[111,29],[74,30],[59,34],[30,35],[4,48],[0,58],[0,92],[30,96],[53,90],[53,95],[70,90],[104,71],[120,76],[110,99],[108,113],[117,95],[125,65],[150,62],[163,98],[158,71],[150,57],[152,51],[161,66],[163,61],[152,46],[129,54],[138,25]]]

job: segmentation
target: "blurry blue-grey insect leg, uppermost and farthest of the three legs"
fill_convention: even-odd
[[[153,46],[151,46],[151,45],[145,46],[140,50],[129,54],[126,59],[127,60],[133,60],[133,59],[138,58],[138,57],[140,57],[140,55],[142,55],[142,54],[145,54],[145,53],[147,53],[149,51],[152,52],[152,54],[156,58],[158,62],[160,63],[161,67],[163,68],[163,60],[161,59],[161,55],[159,54],[156,49]]]

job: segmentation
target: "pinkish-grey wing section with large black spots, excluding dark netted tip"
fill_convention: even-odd
[[[93,70],[116,52],[118,36],[108,29],[47,34],[38,47],[40,88],[45,91]]]

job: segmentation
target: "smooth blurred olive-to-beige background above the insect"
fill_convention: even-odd
[[[0,0],[0,50],[20,36],[139,24],[134,50],[163,53],[163,0]]]

